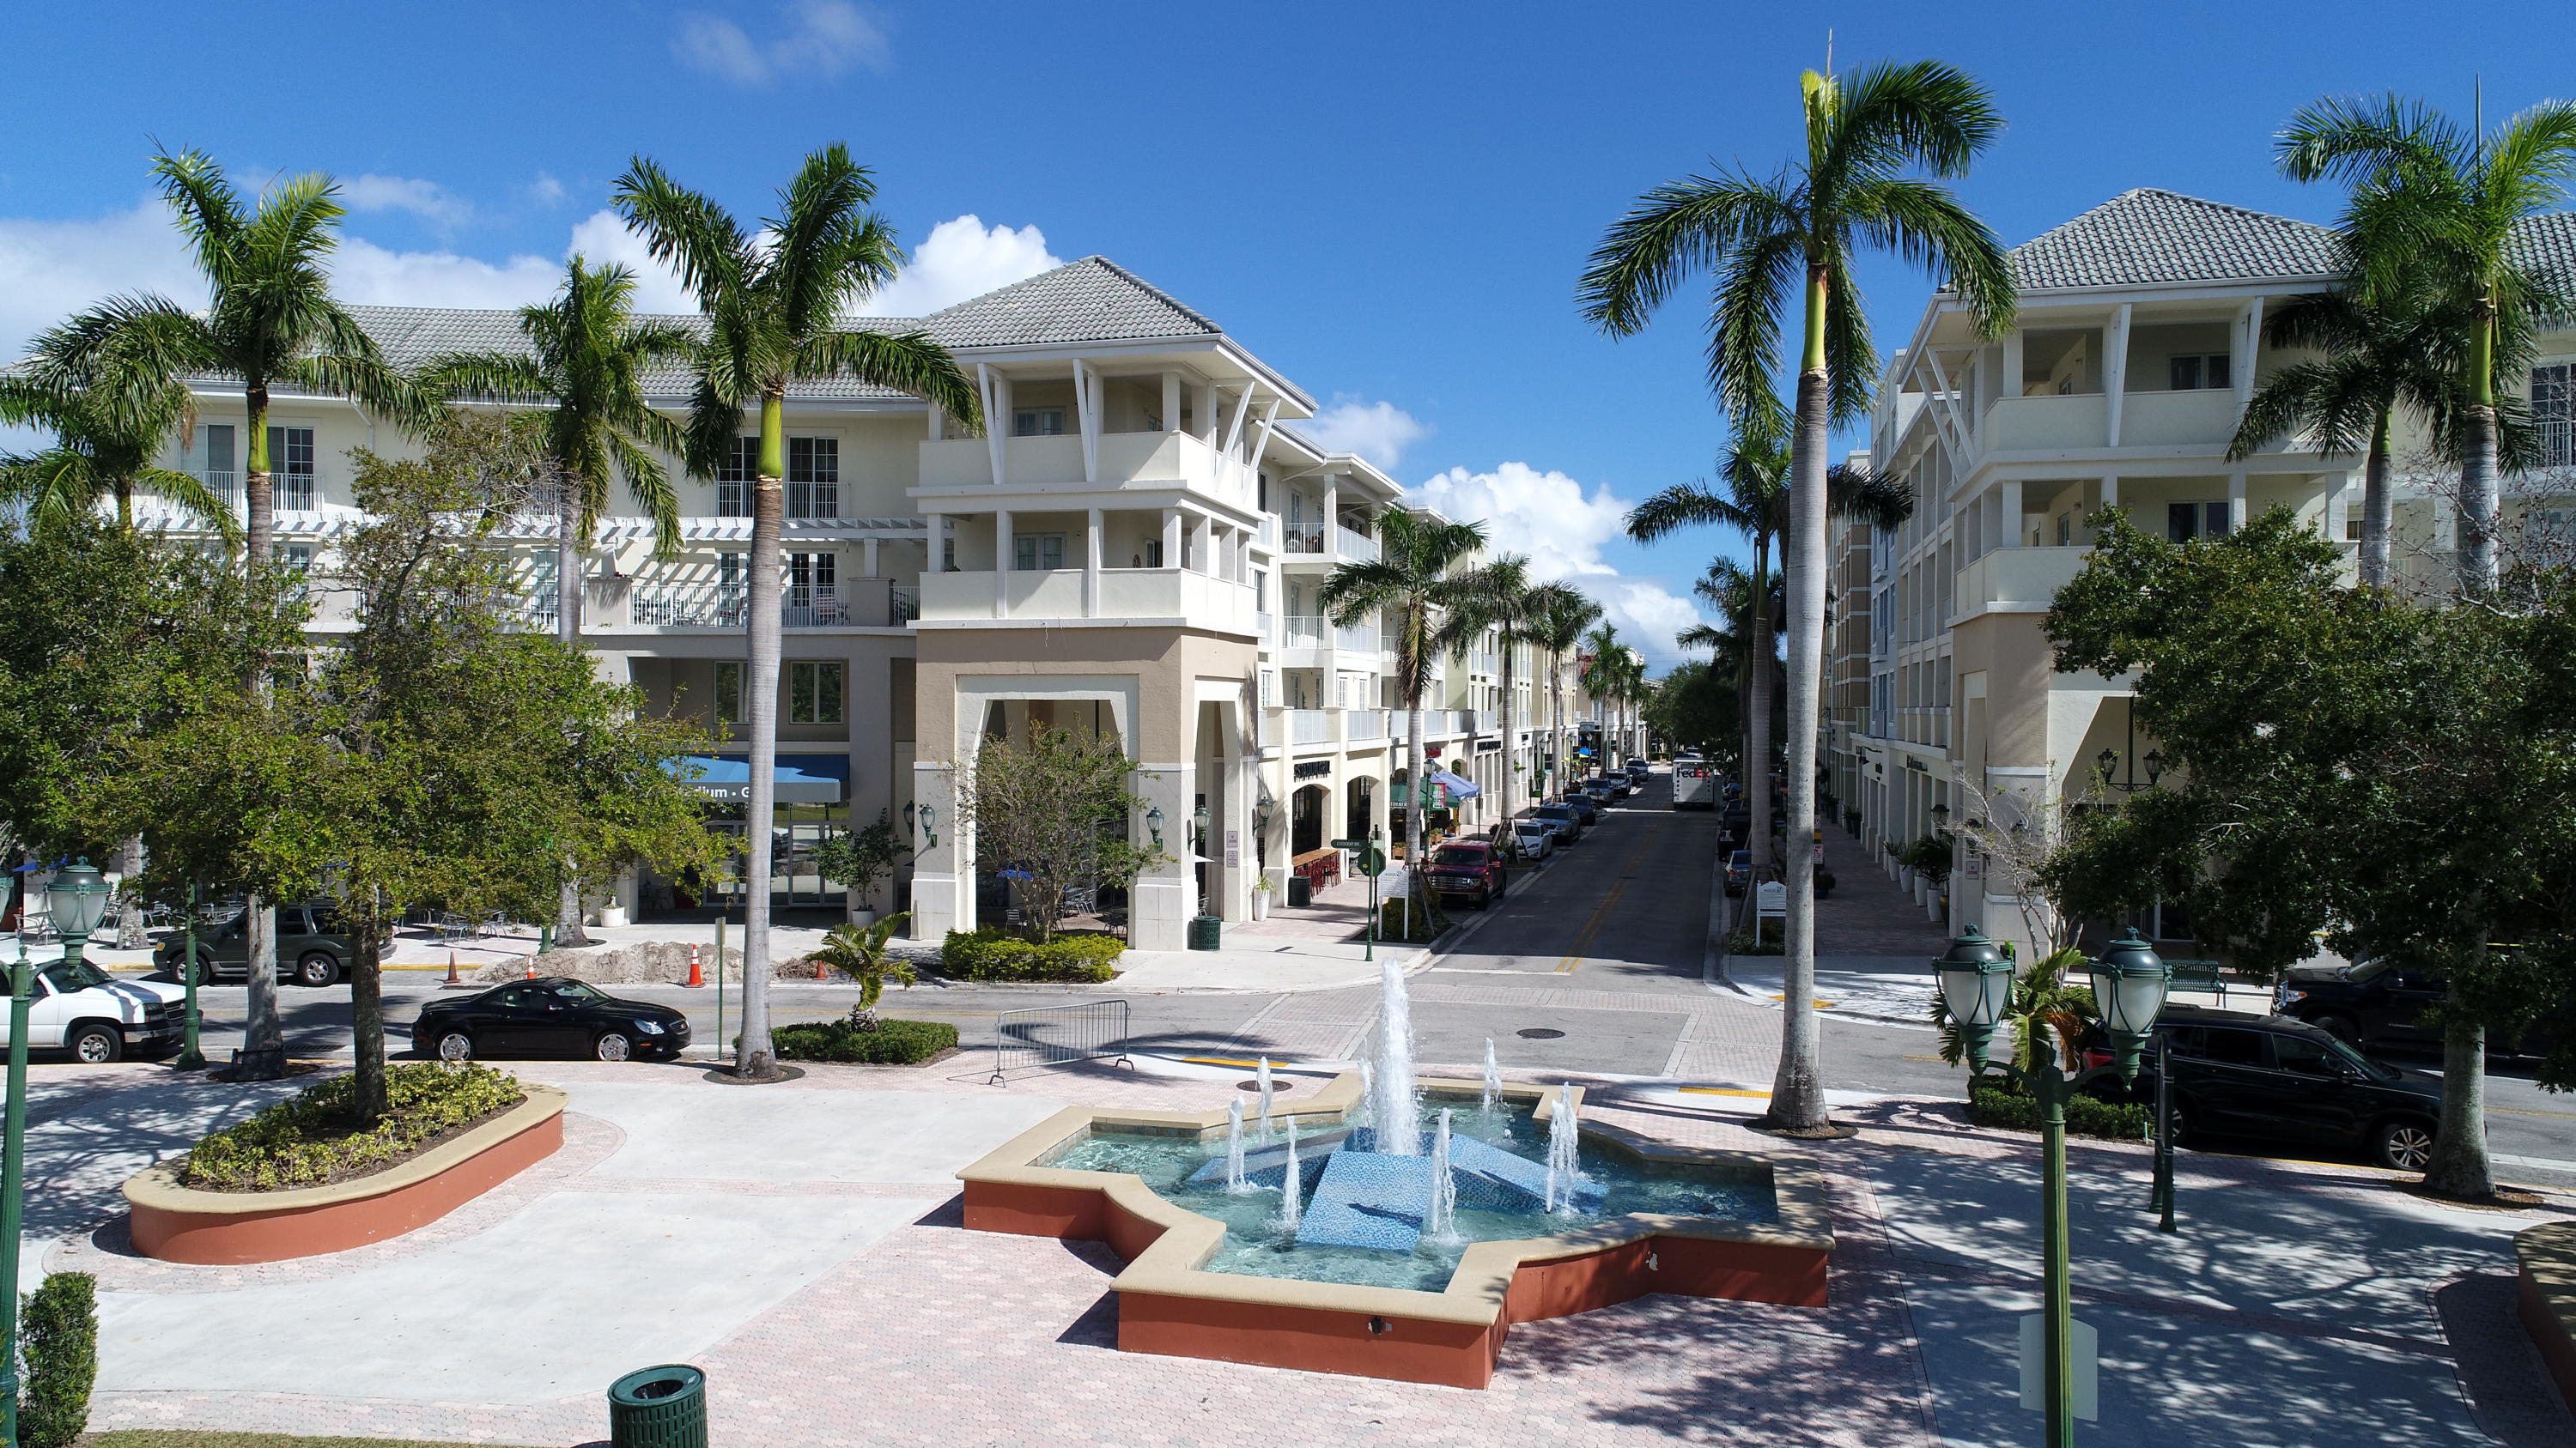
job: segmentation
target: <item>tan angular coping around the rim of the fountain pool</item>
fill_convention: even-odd
[[[1479,1100],[1484,1082],[1450,1077],[1414,1077],[1425,1098]],[[1535,1108],[1535,1121],[1556,1118],[1553,1085],[1504,1082],[1502,1095]],[[1824,1175],[1814,1157],[1793,1152],[1731,1152],[1721,1147],[1682,1147],[1623,1126],[1582,1121],[1584,1087],[1574,1087],[1577,1129],[1641,1162],[1705,1167],[1721,1175],[1770,1175],[1777,1221],[1731,1221],[1718,1216],[1667,1216],[1633,1211],[1610,1221],[1577,1226],[1551,1237],[1522,1237],[1507,1242],[1473,1242],[1458,1260],[1445,1291],[1381,1288],[1358,1283],[1311,1283],[1301,1278],[1260,1278],[1244,1273],[1208,1273],[1203,1262],[1226,1239],[1226,1224],[1200,1216],[1149,1188],[1133,1172],[1087,1172],[1072,1167],[1043,1167],[1077,1139],[1092,1131],[1190,1136],[1208,1139],[1224,1134],[1224,1110],[1121,1110],[1072,1105],[1048,1116],[1038,1126],[1012,1136],[979,1162],[958,1172],[961,1183],[1097,1190],[1128,1216],[1159,1229],[1154,1242],[1136,1252],[1126,1270],[1110,1283],[1118,1293],[1193,1296],[1234,1304],[1316,1309],[1342,1314],[1386,1314],[1422,1322],[1455,1322],[1466,1327],[1494,1327],[1502,1319],[1512,1275],[1522,1265],[1584,1257],[1628,1242],[1654,1237],[1680,1237],[1700,1242],[1744,1242],[1762,1247],[1803,1247],[1814,1252],[1834,1250],[1832,1216],[1824,1201]],[[1358,1072],[1342,1072],[1311,1098],[1296,1105],[1280,1103],[1275,1118],[1306,1121],[1329,1118],[1342,1126],[1360,1105]]]

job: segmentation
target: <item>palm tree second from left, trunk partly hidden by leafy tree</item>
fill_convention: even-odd
[[[167,296],[116,296],[52,332],[62,366],[126,376],[214,374],[240,379],[247,448],[242,472],[242,567],[268,569],[276,554],[276,484],[268,459],[268,394],[273,386],[350,397],[404,430],[428,428],[443,410],[376,348],[374,338],[330,294],[337,247],[337,186],[319,173],[296,175],[245,201],[206,152],[155,152],[152,175],[206,278],[209,301],[191,312]],[[250,680],[265,691],[265,670]],[[252,1059],[278,1059],[278,912],[250,899],[250,1000],[245,1046]]]

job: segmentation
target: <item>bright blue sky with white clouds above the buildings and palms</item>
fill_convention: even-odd
[[[325,170],[348,301],[515,307],[582,250],[647,265],[605,211],[647,155],[739,214],[819,144],[878,173],[917,314],[1108,255],[1296,379],[1311,428],[1486,523],[1662,672],[1713,531],[1623,536],[1710,477],[1705,286],[1631,340],[1574,283],[1602,229],[1687,173],[1777,170],[1798,72],[1947,59],[2007,116],[1958,183],[2007,242],[2136,186],[2331,222],[2269,137],[2331,93],[2486,116],[2576,90],[2561,5],[2478,23],[2393,3],[1087,5],[652,0],[21,5],[0,95],[0,356],[116,291],[191,296],[152,144],[247,183]],[[2517,39],[2519,36],[2519,39]],[[1929,283],[1860,271],[1880,348]],[[685,307],[647,278],[644,301]],[[1842,438],[1837,446],[1852,446]]]

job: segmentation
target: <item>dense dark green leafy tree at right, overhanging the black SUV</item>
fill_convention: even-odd
[[[2287,510],[2200,544],[2110,520],[2048,636],[2058,670],[2136,670],[2164,781],[2074,817],[2043,886],[2094,920],[2187,899],[2241,969],[2280,971],[2334,930],[2349,956],[2442,976],[2424,1180],[2481,1198],[2486,1031],[2571,984],[2576,585],[2530,611],[2424,608],[2342,587],[2339,564]],[[2568,1051],[2543,1080],[2576,1085]]]

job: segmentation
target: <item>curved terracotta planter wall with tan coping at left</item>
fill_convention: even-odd
[[[240,1265],[348,1252],[438,1221],[564,1144],[564,1092],[528,1100],[371,1177],[270,1193],[196,1190],[170,1167],[126,1180],[134,1250],[165,1262]]]

